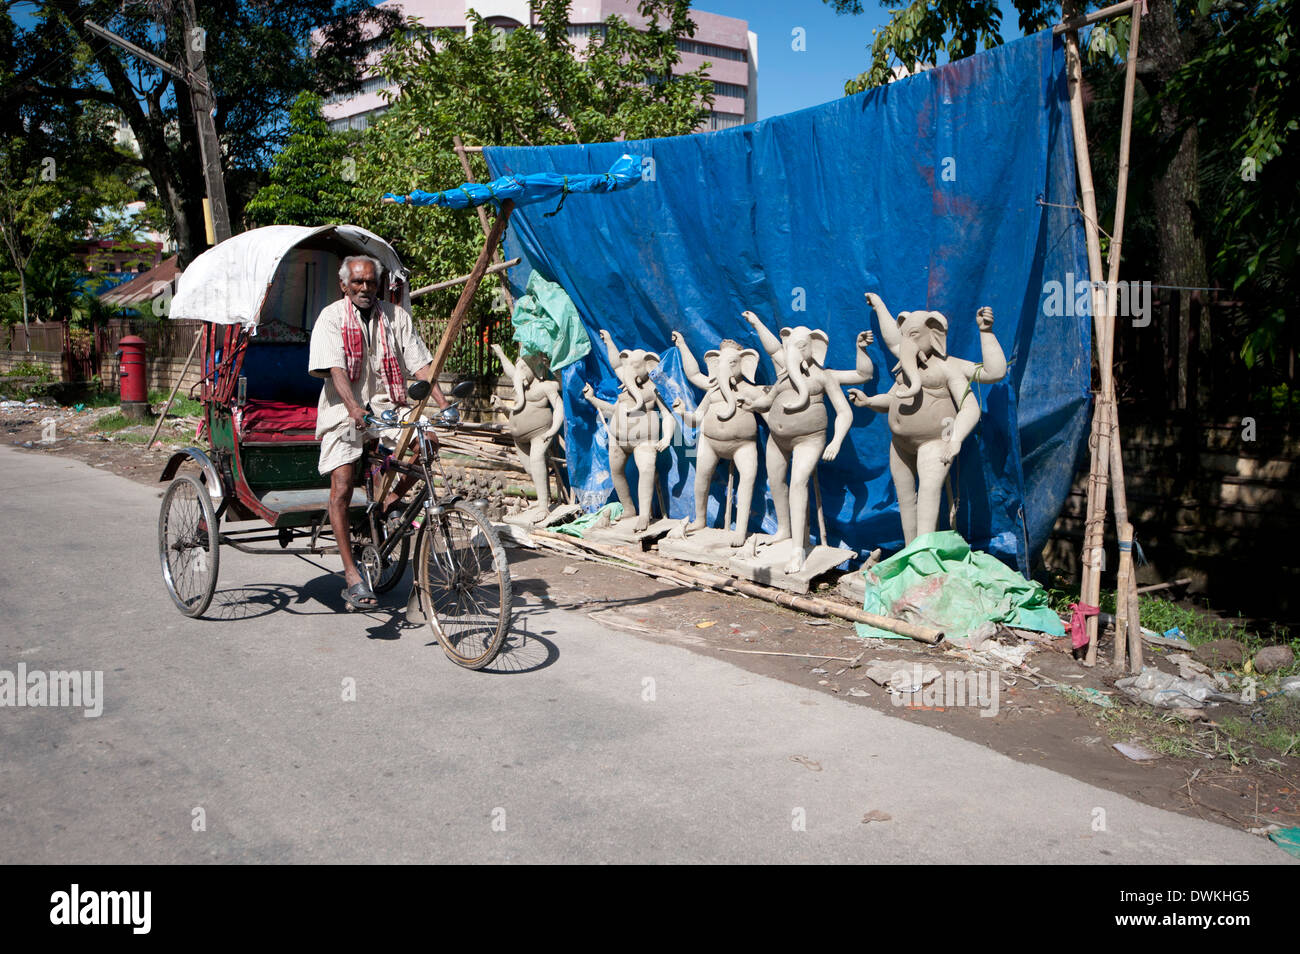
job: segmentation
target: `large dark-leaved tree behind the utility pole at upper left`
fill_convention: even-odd
[[[177,0],[49,0],[13,45],[25,61],[0,94],[0,117],[18,104],[49,108],[104,103],[121,110],[186,265],[203,248],[205,194],[190,99],[172,75],[96,38],[91,19],[181,65],[202,43],[216,95],[231,220],[287,134],[289,108],[303,90],[360,88],[374,35],[400,17],[364,0],[205,0],[203,34],[185,36]],[[64,65],[72,64],[73,70]],[[179,88],[178,88],[179,87]]]

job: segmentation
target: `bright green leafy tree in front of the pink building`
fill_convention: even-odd
[[[381,69],[399,94],[365,131],[354,221],[396,237],[416,286],[471,269],[482,247],[478,221],[465,212],[380,205],[378,196],[463,182],[452,136],[486,146],[610,142],[684,135],[707,117],[707,64],[673,75],[677,42],[696,29],[686,0],[642,0],[647,29],[610,17],[582,51],[568,35],[569,6],[538,0],[536,30],[507,34],[472,14],[467,34],[411,21],[394,35]],[[486,164],[474,162],[485,179]],[[426,296],[417,317],[448,315],[458,295],[451,289]],[[478,309],[482,318],[486,308]]]

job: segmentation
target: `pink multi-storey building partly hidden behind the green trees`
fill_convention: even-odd
[[[467,10],[482,14],[493,29],[516,30],[533,26],[534,18],[528,0],[389,0],[381,6],[395,6],[406,17],[417,17],[429,29],[467,29]],[[619,16],[633,26],[645,26],[646,19],[637,13],[636,0],[575,0],[569,12],[572,25],[569,38],[582,49],[593,31],[604,19]],[[728,129],[758,118],[758,36],[749,23],[715,13],[692,10],[696,36],[680,44],[682,73],[711,64],[708,78],[714,82],[714,107],[701,131]],[[346,99],[332,99],[325,104],[325,118],[332,129],[365,129],[370,118],[384,112],[386,103],[380,90],[386,83],[381,77],[368,79],[361,92]]]

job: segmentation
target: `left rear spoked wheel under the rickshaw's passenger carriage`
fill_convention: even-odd
[[[208,489],[195,477],[177,477],[162,495],[159,558],[162,582],[186,616],[202,616],[217,589],[221,548],[217,513]]]

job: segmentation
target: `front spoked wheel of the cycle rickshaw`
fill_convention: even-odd
[[[429,517],[416,548],[416,585],[425,617],[454,663],[481,669],[510,632],[510,564],[482,512],[458,502]]]

